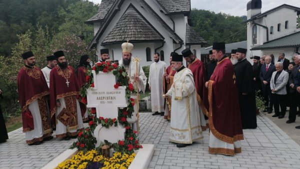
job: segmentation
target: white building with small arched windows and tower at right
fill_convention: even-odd
[[[274,54],[275,62],[279,53],[290,59],[299,52],[300,29],[297,16],[300,8],[282,4],[261,13],[261,0],[247,3],[247,56]]]

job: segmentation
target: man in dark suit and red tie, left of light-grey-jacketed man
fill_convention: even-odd
[[[270,89],[270,80],[272,77],[272,73],[275,71],[275,66],[271,64],[271,57],[265,56],[264,62],[265,64],[261,66],[259,78],[261,81],[261,90],[262,96],[265,101],[265,106],[268,107],[267,113],[272,113],[273,104],[271,96],[271,89]]]

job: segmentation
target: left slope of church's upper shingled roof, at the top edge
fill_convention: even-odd
[[[85,23],[92,23],[95,21],[103,20],[114,1],[115,0],[101,0],[98,12],[95,15],[93,15],[91,18],[86,20]]]

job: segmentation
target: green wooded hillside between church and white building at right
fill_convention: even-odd
[[[246,40],[247,28],[243,19],[243,16],[231,16],[209,10],[191,10],[192,27],[207,41],[207,46],[216,41],[233,43]]]

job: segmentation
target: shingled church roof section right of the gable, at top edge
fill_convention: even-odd
[[[156,0],[165,14],[189,13],[190,0]]]

